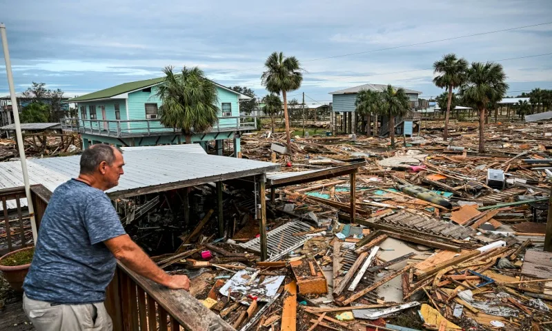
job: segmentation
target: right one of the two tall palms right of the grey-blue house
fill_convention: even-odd
[[[508,84],[506,74],[499,63],[473,62],[467,71],[466,82],[460,87],[460,95],[467,103],[479,111],[479,152],[485,152],[484,121],[486,107],[496,103],[506,95]]]

